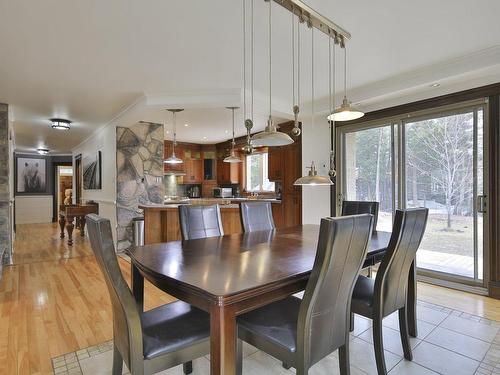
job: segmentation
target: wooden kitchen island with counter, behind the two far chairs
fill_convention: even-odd
[[[241,233],[240,206],[238,203],[242,199],[224,199],[220,204],[220,214],[224,234]],[[203,203],[202,203],[203,201]],[[266,200],[273,203],[273,216],[278,209],[281,209],[279,200]],[[210,200],[192,200],[188,204],[207,204],[219,203],[215,199]],[[139,205],[144,211],[144,243],[146,245],[159,242],[178,241],[181,239],[181,230],[179,225],[179,206],[180,204],[151,204]]]

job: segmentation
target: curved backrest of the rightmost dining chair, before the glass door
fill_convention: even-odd
[[[427,208],[397,210],[389,246],[375,278],[374,310],[387,316],[406,303],[408,274],[427,225]]]

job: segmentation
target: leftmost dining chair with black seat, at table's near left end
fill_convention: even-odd
[[[123,361],[134,375],[153,374],[183,364],[192,372],[192,360],[210,352],[209,315],[177,301],[140,311],[123,278],[108,219],[87,215],[92,250],[104,275],[113,311],[113,374]]]

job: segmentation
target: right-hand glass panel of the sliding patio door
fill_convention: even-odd
[[[483,109],[404,122],[406,207],[427,207],[427,271],[483,279]]]

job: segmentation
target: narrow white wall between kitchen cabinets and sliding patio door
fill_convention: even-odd
[[[302,119],[302,175],[314,161],[318,174],[327,175],[330,166],[330,129],[325,116],[318,115],[312,124],[311,116]],[[330,216],[330,187],[302,187],[302,223],[319,224]]]

